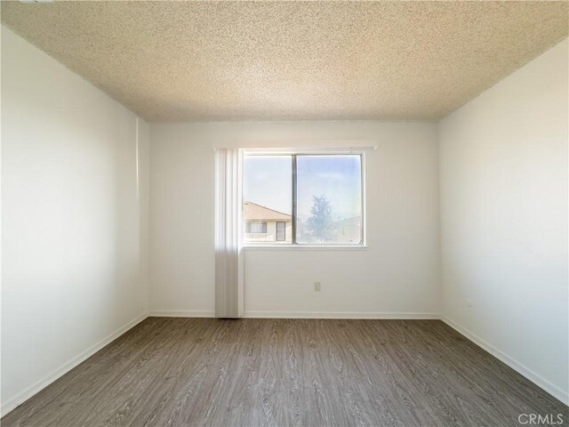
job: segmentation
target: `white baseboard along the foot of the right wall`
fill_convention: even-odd
[[[543,378],[541,375],[533,372],[533,370],[530,369],[529,367],[525,367],[525,365],[519,363],[516,359],[512,359],[506,353],[502,352],[501,350],[498,350],[492,344],[485,342],[485,340],[483,340],[476,334],[471,333],[465,327],[460,326],[451,318],[441,316],[440,319],[443,320],[446,325],[451,326],[456,332],[464,335],[471,342],[477,344],[478,347],[481,347],[482,349],[488,351],[490,354],[493,355],[494,358],[500,359],[506,365],[517,371],[518,374],[525,376],[525,378],[530,380],[532,383],[534,383],[544,391],[547,391],[554,398],[559,399],[565,405],[569,405],[569,394],[566,391],[561,390],[555,384],[549,383],[548,380]]]

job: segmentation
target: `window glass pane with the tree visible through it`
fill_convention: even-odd
[[[298,243],[359,244],[362,165],[359,155],[297,156]]]

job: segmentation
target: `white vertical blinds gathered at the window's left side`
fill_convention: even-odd
[[[241,247],[240,149],[215,150],[215,317],[238,318],[244,310]]]

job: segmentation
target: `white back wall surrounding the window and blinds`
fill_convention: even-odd
[[[339,140],[378,145],[367,153],[369,247],[246,252],[245,315],[438,313],[437,125],[379,122],[152,124],[151,313],[212,315],[212,147]]]

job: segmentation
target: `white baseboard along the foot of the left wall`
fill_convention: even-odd
[[[119,327],[115,332],[106,336],[100,342],[89,347],[87,350],[84,350],[81,354],[78,354],[75,358],[69,360],[67,363],[63,364],[62,366],[55,369],[51,374],[46,375],[43,379],[30,385],[26,390],[21,391],[19,394],[14,396],[12,399],[8,399],[2,404],[0,408],[0,416],[4,416],[8,414],[12,409],[15,409],[26,400],[34,396],[39,391],[42,391],[45,387],[53,383],[55,380],[60,378],[60,376],[67,374],[71,369],[79,365],[80,363],[84,362],[84,360],[89,359],[93,354],[97,351],[108,345],[110,342],[113,342],[127,332],[132,327],[137,326],[142,320],[147,318],[146,314],[139,316],[138,318],[134,318],[126,325]]]

